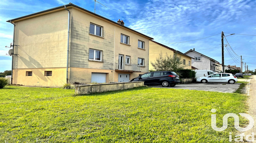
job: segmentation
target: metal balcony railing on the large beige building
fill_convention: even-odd
[[[123,72],[141,72],[140,65],[126,63],[116,63],[115,70]]]

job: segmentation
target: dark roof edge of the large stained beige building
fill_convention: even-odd
[[[76,8],[78,8],[78,9],[80,9],[80,10],[83,10],[83,11],[85,11],[85,12],[88,12],[88,13],[90,13],[90,14],[93,14],[93,15],[95,15],[95,16],[97,16],[97,17],[100,17],[100,18],[106,19],[106,20],[108,20],[108,21],[110,21],[110,22],[114,23],[115,25],[118,25],[118,26],[124,27],[124,28],[129,29],[129,30],[131,30],[131,31],[134,31],[134,32],[136,32],[136,33],[138,33],[138,34],[141,34],[141,35],[143,35],[143,36],[145,36],[145,37],[147,37],[147,38],[149,38],[149,39],[154,39],[154,38],[152,38],[152,37],[149,37],[149,36],[147,36],[147,35],[145,35],[145,34],[142,34],[142,33],[138,32],[138,31],[135,31],[135,30],[133,30],[133,29],[130,29],[130,28],[128,28],[128,27],[126,27],[126,26],[124,26],[124,25],[120,25],[120,24],[118,24],[117,22],[115,22],[115,21],[113,21],[113,20],[110,20],[110,19],[108,19],[108,18],[105,18],[105,17],[103,17],[103,16],[100,16],[100,15],[98,15],[98,14],[96,14],[96,13],[90,12],[90,11],[88,11],[88,10],[86,10],[86,9],[84,9],[84,8],[80,7],[80,6],[77,6],[77,5],[75,5],[75,4],[71,3],[71,2],[70,2],[69,4],[66,4],[66,5],[62,5],[62,6],[58,6],[58,7],[54,7],[54,8],[52,8],[52,9],[48,9],[48,10],[44,10],[44,11],[41,11],[41,12],[37,12],[37,13],[33,13],[33,14],[29,14],[29,15],[25,15],[25,16],[22,16],[22,17],[18,17],[18,18],[10,19],[10,20],[7,20],[6,22],[11,22],[11,21],[15,21],[15,20],[19,20],[19,19],[27,18],[27,17],[30,17],[30,16],[34,16],[34,15],[37,15],[37,14],[42,14],[42,13],[46,13],[46,12],[50,12],[50,11],[54,11],[54,10],[57,10],[57,9],[63,9],[63,8],[65,8],[65,6],[66,6],[66,7],[68,7],[68,6],[76,7]]]

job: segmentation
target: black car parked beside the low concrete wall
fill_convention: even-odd
[[[179,75],[173,71],[158,71],[149,72],[140,75],[137,78],[131,79],[131,81],[144,81],[144,85],[162,85],[163,87],[175,86],[176,83],[180,83]]]

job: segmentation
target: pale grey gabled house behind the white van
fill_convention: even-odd
[[[197,67],[198,69],[210,69],[214,72],[222,72],[222,65],[219,64],[218,61],[195,51],[195,49],[190,49],[185,52],[185,54],[195,58],[192,60],[192,66]]]

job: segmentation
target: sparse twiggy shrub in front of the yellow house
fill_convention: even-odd
[[[185,65],[183,61],[181,61],[181,57],[177,57],[176,54],[172,57],[166,53],[163,56],[162,52],[159,54],[159,57],[156,58],[154,62],[151,62],[152,66],[156,71],[163,71],[163,70],[173,70],[177,71],[179,69],[183,69]]]

